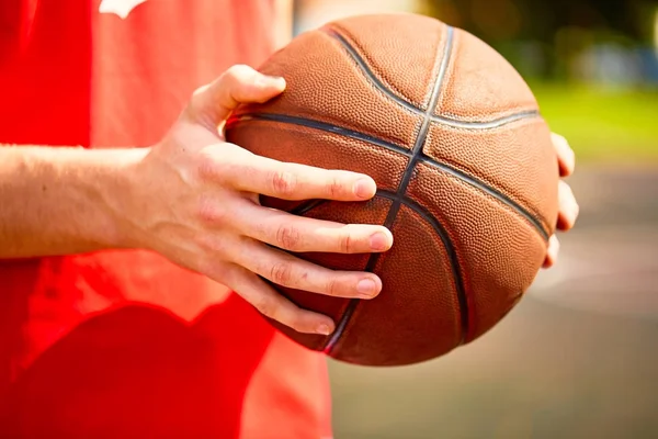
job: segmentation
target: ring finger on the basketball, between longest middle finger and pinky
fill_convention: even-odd
[[[382,291],[373,273],[329,270],[250,238],[242,239],[234,261],[277,285],[310,293],[372,299]]]

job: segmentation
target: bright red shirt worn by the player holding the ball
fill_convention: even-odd
[[[152,145],[272,22],[266,0],[2,0],[0,143]],[[320,354],[158,255],[0,262],[1,437],[326,438],[329,414]]]

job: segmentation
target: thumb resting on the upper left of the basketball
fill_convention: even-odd
[[[196,122],[219,126],[241,103],[265,102],[285,89],[285,79],[236,65],[215,81],[197,89],[188,106]]]

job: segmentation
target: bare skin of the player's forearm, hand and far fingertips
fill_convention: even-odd
[[[377,225],[298,217],[259,204],[259,194],[286,200],[364,201],[372,178],[256,156],[218,130],[240,103],[264,102],[285,88],[234,66],[196,90],[164,138],[150,148],[0,148],[0,259],[141,248],[200,272],[240,294],[264,315],[298,331],[329,334],[328,316],[300,309],[263,279],[340,297],[372,299],[381,279],[332,271],[283,251],[381,252],[393,235]],[[553,136],[560,176],[574,153]],[[578,204],[559,185],[558,228],[568,230]],[[545,267],[559,245],[551,238]]]

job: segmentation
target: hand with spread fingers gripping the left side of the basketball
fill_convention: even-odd
[[[264,315],[298,331],[330,334],[328,316],[300,309],[268,284],[340,297],[372,299],[382,281],[370,272],[332,271],[283,251],[378,252],[393,245],[379,225],[343,225],[261,206],[259,194],[285,200],[364,201],[372,178],[280,162],[223,137],[240,103],[264,102],[285,88],[234,66],[198,89],[161,143],[138,166],[131,229],[140,247],[230,288]],[[146,201],[147,200],[147,201]]]

